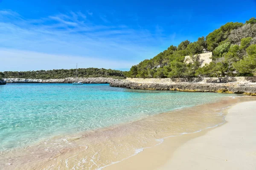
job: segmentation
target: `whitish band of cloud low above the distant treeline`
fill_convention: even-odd
[[[44,54],[23,50],[0,48],[0,71],[32,71],[75,68],[129,68],[133,62],[99,59],[96,57],[81,57],[68,55]]]

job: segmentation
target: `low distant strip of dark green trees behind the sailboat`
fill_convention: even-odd
[[[74,77],[76,69],[70,70],[40,70],[40,71],[4,71],[0,72],[1,78],[29,78],[29,79],[61,79]],[[104,68],[78,68],[78,77],[113,77],[123,78],[124,72]]]

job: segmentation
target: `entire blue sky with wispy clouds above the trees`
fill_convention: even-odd
[[[0,0],[0,71],[130,68],[251,17],[255,0]]]

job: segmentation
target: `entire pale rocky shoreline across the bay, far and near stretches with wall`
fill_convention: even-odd
[[[201,91],[218,93],[236,93],[256,96],[256,77],[229,77],[218,82],[217,78],[174,78],[174,79],[114,79],[111,77],[79,78],[83,83],[108,83],[113,87],[143,89],[143,90],[172,90],[172,91]],[[72,83],[72,77],[65,79],[19,79],[8,78],[0,80],[6,83]]]

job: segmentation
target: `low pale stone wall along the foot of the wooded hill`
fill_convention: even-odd
[[[131,82],[143,82],[143,83],[173,83],[173,82],[219,82],[217,77],[192,77],[192,78],[164,78],[164,79],[143,79],[143,78],[127,78]],[[223,77],[221,82],[256,82],[256,76],[254,77]]]

